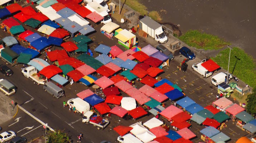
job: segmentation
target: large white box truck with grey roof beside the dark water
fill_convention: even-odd
[[[148,16],[145,16],[139,21],[139,28],[154,38],[156,41],[158,41],[159,44],[163,44],[168,41],[168,38],[163,31],[162,25]]]

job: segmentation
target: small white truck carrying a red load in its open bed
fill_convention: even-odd
[[[91,111],[87,111],[86,113],[83,114],[82,122],[87,125],[89,123],[93,124],[97,126],[97,129],[101,129],[101,128],[104,129],[109,124],[108,120],[105,120],[100,116],[93,115],[93,112]]]

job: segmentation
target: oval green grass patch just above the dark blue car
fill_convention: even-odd
[[[230,45],[230,43],[218,38],[218,36],[201,33],[198,30],[189,30],[179,39],[189,46],[204,50],[218,50]]]

